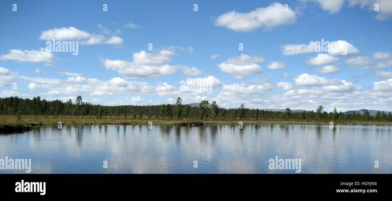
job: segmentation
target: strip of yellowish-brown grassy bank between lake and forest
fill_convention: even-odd
[[[178,120],[178,119],[132,119],[132,118],[116,118],[107,117],[102,119],[81,117],[71,118],[69,116],[60,116],[55,118],[53,116],[31,116],[22,115],[20,120],[17,120],[16,115],[0,115],[0,131],[4,129],[30,129],[34,125],[57,125],[58,121],[61,121],[63,125],[87,125],[87,124],[147,124],[152,121],[154,124],[169,124],[175,125],[180,122],[194,122],[195,120]],[[283,120],[203,120],[201,122],[207,124],[238,124],[242,121],[244,124],[329,124],[329,121],[283,121]],[[388,121],[334,121],[334,125],[392,125],[392,122]]]

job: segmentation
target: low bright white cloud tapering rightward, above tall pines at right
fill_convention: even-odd
[[[309,74],[300,74],[299,76],[295,76],[294,78],[296,85],[341,85],[342,82],[338,79],[327,79],[323,77],[319,77],[317,75],[309,75]]]

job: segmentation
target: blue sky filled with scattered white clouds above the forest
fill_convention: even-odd
[[[392,110],[390,0],[3,0],[0,15],[0,97]]]

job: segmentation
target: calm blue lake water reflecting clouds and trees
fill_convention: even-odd
[[[29,158],[31,173],[295,174],[270,170],[276,156],[301,159],[302,174],[392,173],[391,134],[391,126],[376,125],[41,127],[0,134],[0,158]]]

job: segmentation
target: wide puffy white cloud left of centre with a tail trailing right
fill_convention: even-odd
[[[174,74],[179,69],[188,76],[201,74],[201,71],[195,67],[169,65],[172,57],[176,55],[169,49],[157,50],[153,53],[142,50],[132,55],[133,62],[104,59],[103,65],[105,65],[106,69],[118,71],[124,77],[132,79],[162,77],[167,74]]]

